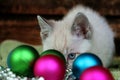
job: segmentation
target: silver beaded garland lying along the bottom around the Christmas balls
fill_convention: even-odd
[[[65,80],[75,80],[76,78],[72,75],[72,70],[69,68],[66,70]],[[43,77],[20,77],[14,74],[10,68],[3,68],[0,66],[0,80],[45,80]]]

